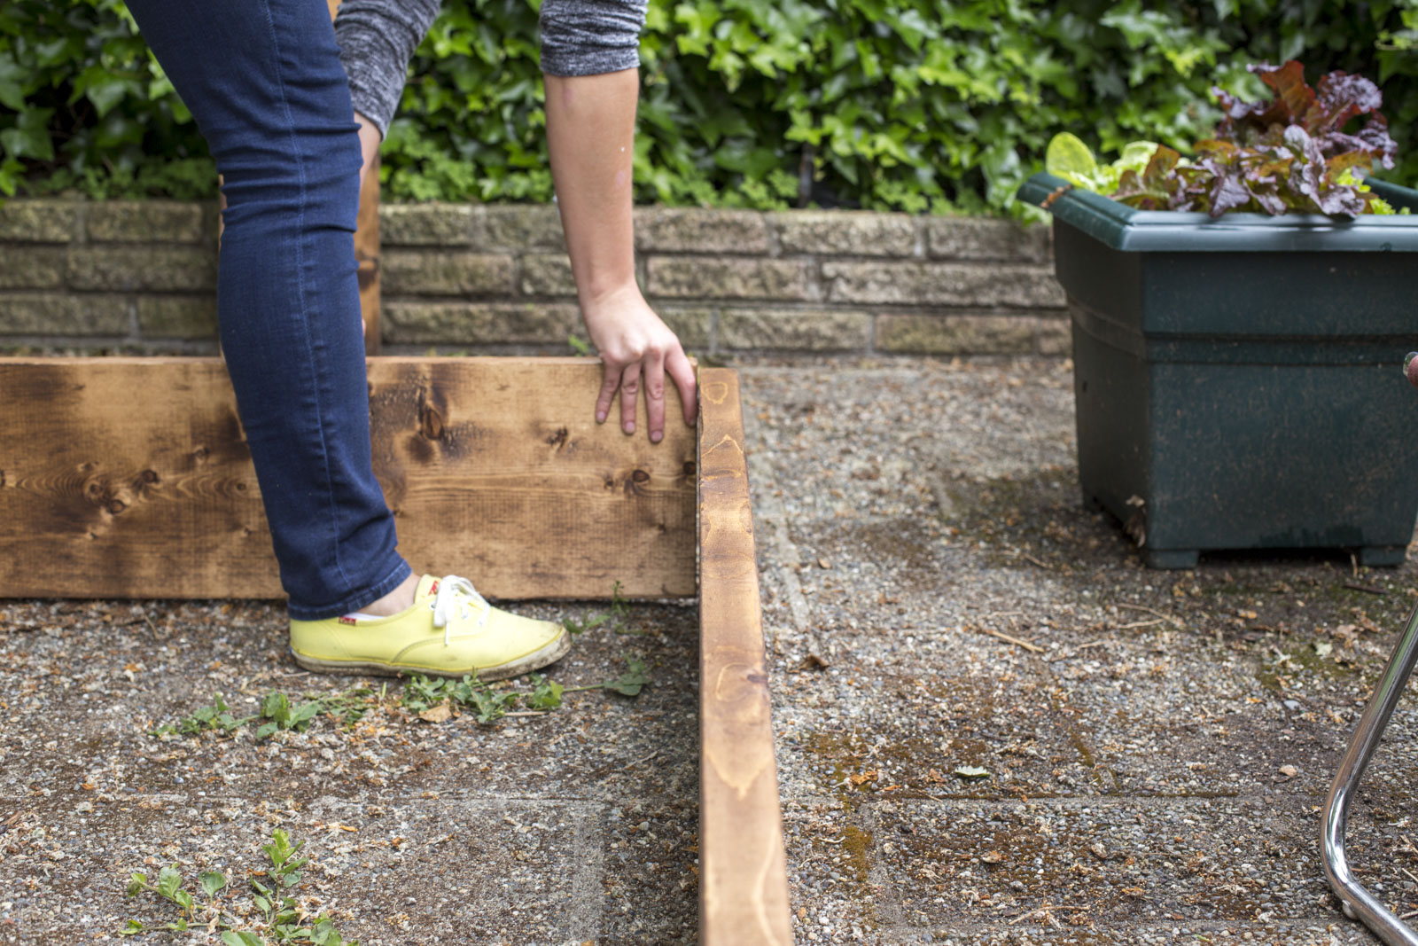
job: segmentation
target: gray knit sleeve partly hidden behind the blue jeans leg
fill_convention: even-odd
[[[343,0],[335,17],[340,65],[354,111],[389,133],[408,60],[438,16],[438,0]]]

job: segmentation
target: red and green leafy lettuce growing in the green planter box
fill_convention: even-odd
[[[1221,123],[1212,138],[1195,143],[1190,160],[1164,145],[1139,160],[1139,150],[1129,146],[1115,165],[1095,165],[1089,172],[1065,142],[1059,167],[1066,173],[1059,176],[1141,210],[1197,210],[1212,217],[1227,211],[1394,213],[1363,183],[1375,166],[1392,167],[1397,155],[1378,111],[1378,87],[1358,75],[1330,72],[1310,88],[1293,60],[1251,71],[1271,87],[1272,99],[1246,102],[1214,89]],[[1360,118],[1364,123],[1350,130]],[[1051,157],[1054,150],[1051,143]],[[1059,173],[1052,160],[1049,170]],[[1109,187],[1113,172],[1116,184]]]

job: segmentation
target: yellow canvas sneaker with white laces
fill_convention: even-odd
[[[414,606],[393,617],[291,621],[291,655],[325,674],[518,677],[571,650],[566,628],[501,611],[468,579],[425,574]]]

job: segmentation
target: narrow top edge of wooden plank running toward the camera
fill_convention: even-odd
[[[699,942],[787,946],[787,862],[733,370],[699,372]]]

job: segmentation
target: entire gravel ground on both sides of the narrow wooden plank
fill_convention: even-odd
[[[1377,942],[1326,889],[1317,810],[1418,564],[1140,567],[1079,501],[1066,363],[740,370],[800,943]],[[275,827],[302,903],[367,946],[693,942],[695,611],[625,630],[553,678],[638,654],[635,699],[484,726],[394,684],[353,725],[155,738],[218,691],[362,681],[298,672],[271,604],[0,603],[0,943],[166,922],[129,872],[244,878]],[[1414,735],[1402,706],[1350,831],[1401,912]]]

